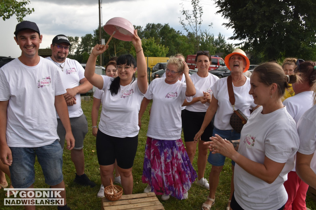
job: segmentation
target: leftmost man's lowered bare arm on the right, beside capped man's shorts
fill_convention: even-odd
[[[66,101],[64,99],[63,95],[56,95],[55,96],[55,108],[57,111],[57,114],[63,123],[63,126],[66,130],[65,135],[65,141],[67,142],[67,150],[72,150],[75,146],[75,138],[72,135],[71,126],[70,126],[70,120],[69,120],[69,114],[68,114],[68,108]]]

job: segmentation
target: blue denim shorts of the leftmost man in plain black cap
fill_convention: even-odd
[[[9,166],[14,188],[28,188],[35,182],[35,156],[42,167],[45,183],[56,185],[63,181],[63,150],[58,139],[41,147],[10,147],[12,165]]]

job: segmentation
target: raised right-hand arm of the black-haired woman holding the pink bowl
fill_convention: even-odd
[[[144,94],[148,88],[148,80],[147,80],[147,65],[146,59],[142,48],[142,41],[137,35],[137,30],[134,30],[134,36],[132,39],[132,43],[136,50],[137,57],[137,85],[139,90]]]

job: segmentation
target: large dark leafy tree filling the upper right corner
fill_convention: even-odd
[[[306,0],[216,0],[217,14],[233,28],[229,39],[240,40],[246,49],[266,60],[299,57],[312,60],[316,43],[316,2]]]

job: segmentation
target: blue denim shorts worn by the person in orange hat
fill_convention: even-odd
[[[214,127],[212,136],[215,136],[215,134],[227,140],[240,139],[240,133],[237,133],[235,130],[219,130],[216,127]],[[207,161],[213,166],[223,166],[225,163],[225,158],[226,158],[225,156],[219,153],[212,154],[212,152],[210,152],[209,157],[207,158]],[[234,161],[232,161],[232,165],[233,166],[235,165]]]

